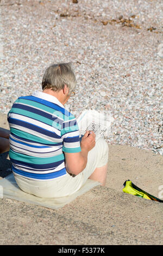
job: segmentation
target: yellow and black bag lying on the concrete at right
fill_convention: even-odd
[[[147,193],[146,191],[141,190],[141,188],[135,186],[130,180],[126,180],[123,184],[123,192],[128,194],[134,194],[134,196],[146,198],[149,200],[157,201],[163,203],[163,200],[152,196],[152,194]]]

